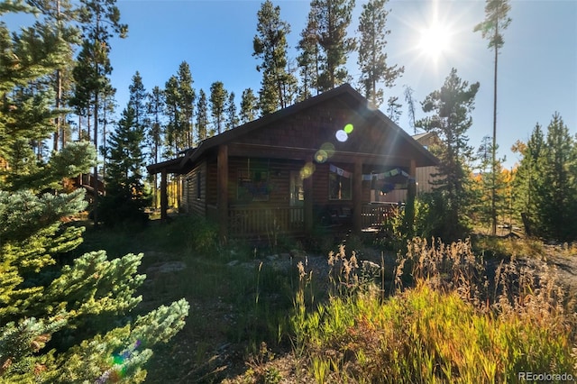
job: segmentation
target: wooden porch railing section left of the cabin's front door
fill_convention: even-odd
[[[229,233],[233,236],[303,233],[304,221],[302,206],[232,206],[229,209]]]

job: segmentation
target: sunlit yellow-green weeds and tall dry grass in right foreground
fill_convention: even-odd
[[[407,249],[398,258],[397,291],[385,300],[375,285],[355,278],[355,256],[343,260],[343,249],[333,279],[344,289],[309,312],[297,300],[296,352],[317,382],[490,383],[517,381],[526,371],[576,376],[572,300],[554,269],[511,261],[488,278],[470,242],[414,239]],[[306,287],[301,279],[297,295]]]

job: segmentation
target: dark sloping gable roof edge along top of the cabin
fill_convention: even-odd
[[[414,149],[422,154],[426,160],[431,162],[431,165],[434,165],[438,162],[438,160],[431,154],[429,151],[416,142],[408,133],[406,133],[401,127],[398,126],[397,123],[394,123],[387,117],[385,114],[380,112],[380,110],[361,96],[356,90],[353,89],[349,84],[344,84],[340,87],[335,87],[325,93],[310,97],[307,100],[299,102],[294,105],[290,105],[286,108],[280,109],[279,111],[273,114],[267,114],[266,116],[261,117],[260,119],[253,120],[249,123],[244,123],[230,131],[226,131],[224,133],[217,134],[213,137],[207,138],[198,144],[196,148],[189,149],[186,151],[186,154],[182,157],[179,157],[174,160],[164,161],[158,164],[152,164],[147,167],[149,172],[151,173],[158,173],[162,168],[166,168],[169,166],[169,172],[179,173],[177,168],[179,169],[187,169],[188,164],[194,163],[198,158],[200,158],[206,151],[213,149],[221,144],[225,144],[227,142],[232,142],[235,139],[240,138],[243,135],[248,133],[252,133],[255,130],[258,130],[266,125],[271,123],[278,122],[284,118],[287,118],[291,115],[298,114],[301,111],[304,111],[307,108],[310,108],[315,105],[320,105],[325,101],[334,99],[334,98],[341,98],[347,101],[347,104],[352,105],[352,108],[358,109],[360,108],[361,114],[366,117],[368,120],[376,120],[377,122],[384,123],[390,129],[395,131],[400,138],[404,139],[405,141],[409,142]],[[165,164],[162,166],[162,164]],[[178,165],[177,165],[178,164]]]

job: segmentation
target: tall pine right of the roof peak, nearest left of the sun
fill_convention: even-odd
[[[373,105],[379,107],[383,102],[383,91],[378,87],[384,83],[385,87],[393,87],[395,80],[405,71],[404,67],[387,64],[386,37],[390,33],[387,29],[387,15],[385,9],[388,0],[370,0],[362,5],[362,14],[359,19],[359,56],[357,63],[361,69],[362,92]]]

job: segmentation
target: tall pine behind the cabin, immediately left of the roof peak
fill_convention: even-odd
[[[316,41],[323,52],[317,78],[320,92],[338,87],[349,78],[345,64],[355,41],[346,37],[346,29],[351,23],[353,8],[354,0],[311,1],[317,26]]]

